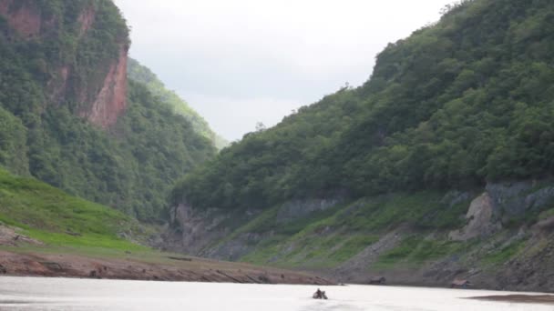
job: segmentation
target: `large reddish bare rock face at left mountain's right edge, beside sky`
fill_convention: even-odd
[[[121,46],[119,58],[110,66],[95,102],[81,116],[103,128],[118,122],[118,116],[127,107],[127,60],[127,48]]]

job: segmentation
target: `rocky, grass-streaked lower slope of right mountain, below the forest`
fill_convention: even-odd
[[[295,200],[266,211],[174,209],[166,248],[311,271],[344,283],[553,291],[554,182]]]

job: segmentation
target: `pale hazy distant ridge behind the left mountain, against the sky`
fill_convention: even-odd
[[[190,105],[186,101],[181,99],[175,92],[169,91],[163,82],[159,80],[158,76],[148,67],[140,65],[139,61],[135,59],[129,58],[127,72],[129,79],[147,85],[152,95],[159,97],[163,103],[170,105],[176,114],[184,116],[200,135],[210,139],[218,149],[229,145],[229,142],[210,129],[208,122],[190,108]]]

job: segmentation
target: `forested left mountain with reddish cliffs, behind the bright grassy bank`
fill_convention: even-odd
[[[128,27],[111,0],[0,0],[0,166],[140,220],[210,139],[128,80]]]

